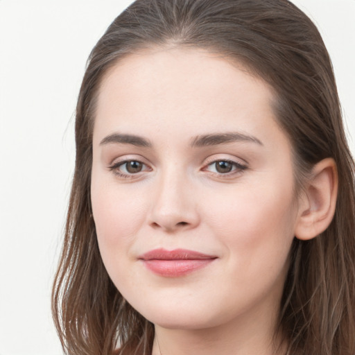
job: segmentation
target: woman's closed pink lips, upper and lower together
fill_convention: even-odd
[[[187,249],[150,250],[139,257],[148,270],[163,277],[180,277],[205,268],[216,260],[215,255],[203,254]]]

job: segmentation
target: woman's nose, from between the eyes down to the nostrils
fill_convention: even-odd
[[[152,193],[148,223],[164,232],[189,230],[200,223],[198,201],[186,176],[166,173]]]

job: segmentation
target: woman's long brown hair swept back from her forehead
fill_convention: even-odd
[[[125,302],[103,266],[90,200],[98,89],[118,60],[149,47],[189,46],[243,63],[275,91],[275,113],[293,144],[295,176],[332,157],[339,175],[328,229],[291,248],[279,331],[287,354],[355,354],[354,162],[331,61],[320,33],[287,0],[137,0],[94,47],[76,109],[76,169],[53,318],[66,354],[150,354],[154,328]]]

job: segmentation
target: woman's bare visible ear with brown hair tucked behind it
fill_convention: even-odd
[[[338,171],[334,159],[321,160],[312,169],[299,204],[295,236],[309,240],[324,232],[336,210]]]

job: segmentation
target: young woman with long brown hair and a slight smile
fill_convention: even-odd
[[[292,3],[133,3],[90,55],[76,149],[67,354],[355,354],[354,163]]]

